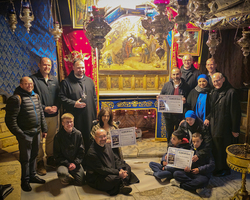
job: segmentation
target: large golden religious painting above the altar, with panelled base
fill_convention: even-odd
[[[117,90],[121,93],[159,92],[159,85],[163,85],[160,81],[168,79],[171,59],[168,38],[172,38],[172,32],[161,46],[165,54],[160,59],[156,54],[160,45],[154,36],[146,35],[141,25],[143,18],[124,14],[110,23],[112,29],[105,37],[99,59],[100,94]]]

